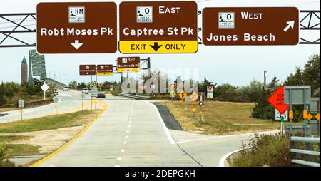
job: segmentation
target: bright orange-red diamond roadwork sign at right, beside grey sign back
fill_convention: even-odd
[[[284,86],[277,88],[267,101],[277,109],[280,114],[285,113],[285,111],[290,108],[290,105],[284,104]]]

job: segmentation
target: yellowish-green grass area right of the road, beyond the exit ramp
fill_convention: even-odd
[[[255,103],[232,103],[206,101],[202,107],[203,120],[200,121],[200,106],[178,101],[162,102],[178,120],[184,130],[207,135],[228,135],[253,131],[277,130],[280,122],[251,118]]]

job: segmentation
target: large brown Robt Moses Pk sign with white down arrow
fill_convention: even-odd
[[[117,6],[113,2],[39,3],[39,53],[115,53]]]

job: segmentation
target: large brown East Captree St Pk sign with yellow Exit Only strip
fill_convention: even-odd
[[[193,1],[121,2],[121,53],[195,53],[198,9]]]

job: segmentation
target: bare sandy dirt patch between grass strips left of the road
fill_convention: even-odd
[[[11,144],[27,144],[40,146],[40,154],[49,154],[74,138],[85,125],[56,130],[41,130],[26,133],[1,133],[0,135],[19,135],[31,137],[27,140],[14,140]]]

